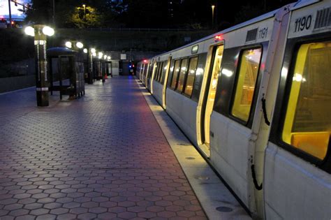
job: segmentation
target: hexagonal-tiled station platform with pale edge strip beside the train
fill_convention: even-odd
[[[0,94],[0,219],[251,219],[131,76]]]

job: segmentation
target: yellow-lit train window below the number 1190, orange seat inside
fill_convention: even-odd
[[[331,133],[331,41],[307,43],[297,51],[282,139],[323,160]]]

